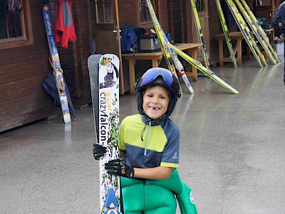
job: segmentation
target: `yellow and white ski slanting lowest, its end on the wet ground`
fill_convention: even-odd
[[[202,63],[200,63],[199,61],[195,60],[194,58],[188,56],[187,54],[185,54],[183,51],[180,51],[180,49],[177,49],[175,46],[172,46],[172,49],[175,50],[175,52],[181,56],[182,58],[184,58],[187,62],[191,63],[192,66],[195,66],[197,69],[199,69],[199,71],[202,71],[202,73],[206,74],[207,76],[209,76],[209,78],[212,78],[212,80],[214,80],[215,82],[219,83],[221,86],[224,86],[224,88],[227,88],[229,91],[231,91],[234,94],[239,93],[239,91],[237,91],[236,89],[232,88],[232,86],[229,86],[229,84],[227,84],[226,82],[224,82],[221,78],[219,78],[217,75],[214,74],[213,71],[205,68]]]

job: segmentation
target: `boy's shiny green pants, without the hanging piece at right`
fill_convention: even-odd
[[[121,185],[124,214],[175,214],[172,190],[130,178],[121,178]]]

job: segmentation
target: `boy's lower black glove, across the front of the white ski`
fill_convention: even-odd
[[[108,170],[110,175],[120,175],[126,178],[133,178],[134,170],[133,167],[125,163],[120,159],[109,161],[105,163],[105,170]]]

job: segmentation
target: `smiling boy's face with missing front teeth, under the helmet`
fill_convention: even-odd
[[[150,86],[145,89],[142,101],[145,114],[155,120],[165,115],[170,102],[170,93],[162,86]]]

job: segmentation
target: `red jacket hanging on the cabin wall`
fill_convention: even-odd
[[[56,0],[56,22],[54,34],[56,42],[61,42],[63,48],[68,48],[68,41],[76,41],[76,32],[71,14],[71,0]]]

